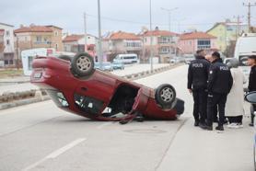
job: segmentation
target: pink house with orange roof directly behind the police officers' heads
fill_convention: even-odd
[[[180,35],[179,48],[183,54],[194,54],[197,50],[215,51],[216,37],[204,32],[191,32]]]

